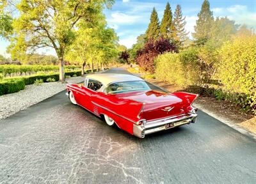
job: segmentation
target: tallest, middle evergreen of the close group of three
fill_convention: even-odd
[[[164,10],[164,16],[160,25],[160,34],[164,38],[168,38],[168,37],[170,38],[170,32],[172,31],[172,29],[173,29],[172,10],[171,10],[170,3],[167,2]]]

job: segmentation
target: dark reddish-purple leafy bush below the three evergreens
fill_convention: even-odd
[[[138,50],[136,62],[146,72],[154,73],[154,59],[164,52],[177,52],[175,45],[164,38],[159,40],[148,40],[142,50]]]

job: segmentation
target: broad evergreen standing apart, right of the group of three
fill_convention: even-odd
[[[196,43],[204,44],[210,38],[211,27],[212,23],[214,22],[208,0],[204,0],[202,8],[197,16],[198,20],[196,20],[195,33],[192,35],[193,38],[195,38]]]

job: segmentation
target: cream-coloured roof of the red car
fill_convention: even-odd
[[[126,81],[143,81],[140,77],[128,74],[118,73],[95,73],[86,75],[86,79],[94,79],[100,81],[104,86],[113,82],[126,82]]]

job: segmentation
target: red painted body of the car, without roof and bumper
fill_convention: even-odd
[[[166,118],[186,114],[198,95],[191,93],[162,93],[159,91],[136,91],[120,94],[108,94],[93,91],[77,84],[68,84],[67,91],[72,91],[77,104],[97,116],[106,114],[118,127],[133,134],[133,124],[146,119]],[[165,107],[172,111],[163,111]]]

